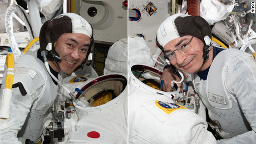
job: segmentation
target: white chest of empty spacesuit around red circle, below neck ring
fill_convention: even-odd
[[[127,91],[125,92],[127,93]],[[68,132],[66,143],[127,143],[127,122],[125,119],[125,115],[127,115],[127,95],[119,98],[119,101],[113,104],[106,108],[98,106],[99,108],[96,107],[94,111],[90,112],[88,110],[93,108],[82,110],[83,108],[80,107],[80,110],[82,110],[80,111],[77,108],[78,106],[75,105],[78,120],[73,126],[75,131]],[[100,137],[87,137],[91,131],[99,132]],[[85,136],[86,134],[87,136]]]

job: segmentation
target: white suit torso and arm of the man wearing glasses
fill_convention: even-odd
[[[221,51],[211,64],[207,80],[191,75],[211,121],[219,127],[216,132],[230,138],[218,143],[256,143],[255,76],[255,59],[238,49]]]

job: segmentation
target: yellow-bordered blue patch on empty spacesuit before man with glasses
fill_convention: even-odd
[[[174,112],[175,110],[187,109],[187,108],[185,108],[183,106],[180,106],[176,103],[170,103],[170,102],[155,101],[155,104],[156,104],[157,107],[159,107],[161,110],[166,112],[168,115],[171,112]]]

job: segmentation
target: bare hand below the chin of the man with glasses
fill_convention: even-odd
[[[166,67],[164,69],[163,75],[160,78],[159,83],[161,82],[161,80],[164,80],[162,90],[165,92],[171,92],[171,81],[175,80],[179,82],[180,78],[178,77],[178,75],[176,75],[176,73],[173,72],[173,70],[170,67]],[[180,91],[182,91],[182,83],[179,83],[178,85],[180,86]]]

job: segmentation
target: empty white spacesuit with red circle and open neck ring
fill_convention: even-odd
[[[74,103],[71,118],[65,118],[65,141],[59,143],[127,143],[127,80],[122,74],[104,75],[98,78],[67,77],[63,85],[74,92],[80,101],[92,101],[93,107],[81,107]],[[79,88],[82,92],[76,92]],[[102,98],[103,105],[95,106],[97,96],[112,93],[112,100]],[[112,92],[111,92],[112,91]],[[60,94],[68,98],[61,88]],[[115,98],[114,98],[115,97]],[[106,101],[105,101],[106,100]],[[94,134],[93,134],[94,133]]]

